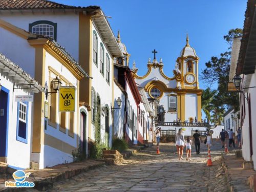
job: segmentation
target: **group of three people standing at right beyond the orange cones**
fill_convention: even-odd
[[[233,129],[229,129],[228,132],[224,131],[224,129],[222,129],[222,131],[220,132],[220,139],[222,142],[222,148],[224,148],[225,145],[225,139],[228,139],[228,146],[231,147],[233,144],[234,147],[234,132]],[[237,131],[237,141],[238,144],[241,142],[241,127],[239,127],[238,131]]]

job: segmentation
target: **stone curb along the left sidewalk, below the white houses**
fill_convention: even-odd
[[[74,177],[80,173],[88,172],[88,170],[95,169],[95,168],[101,167],[103,165],[105,165],[105,163],[101,162],[96,165],[88,165],[86,167],[73,168],[70,170],[66,170],[65,172],[61,172],[58,175],[53,176],[53,177],[48,177],[48,178],[44,178],[41,180],[34,180],[33,181],[35,183],[34,189],[37,189],[39,191],[46,191],[46,190],[52,188],[53,183],[56,181],[63,180],[63,179],[69,179],[69,178]],[[1,189],[0,188],[0,191],[22,191],[22,190],[26,190],[26,188],[25,189],[20,189],[20,188],[2,188]]]

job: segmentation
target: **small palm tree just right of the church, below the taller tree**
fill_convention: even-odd
[[[207,88],[203,91],[202,94],[202,110],[208,120],[210,120],[210,112],[214,109],[214,104],[212,104],[212,100],[214,99],[216,93],[217,90],[211,91],[210,88]]]

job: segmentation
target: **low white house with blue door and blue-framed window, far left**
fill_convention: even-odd
[[[29,168],[33,98],[44,89],[2,53],[0,79],[0,161],[15,169]]]

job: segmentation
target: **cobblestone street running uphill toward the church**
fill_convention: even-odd
[[[228,191],[221,166],[220,141],[211,149],[213,166],[207,167],[205,144],[191,160],[178,160],[174,144],[160,144],[145,148],[122,164],[103,166],[82,173],[70,180],[54,183],[50,191]]]

